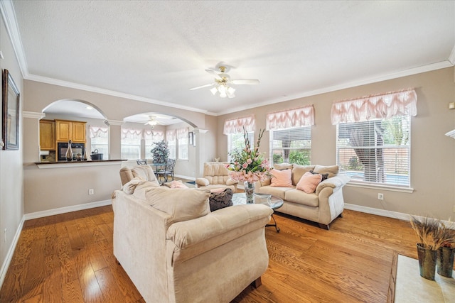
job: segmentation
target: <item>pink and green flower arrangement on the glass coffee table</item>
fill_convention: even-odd
[[[232,180],[253,183],[256,181],[264,181],[265,177],[269,176],[269,161],[264,159],[264,156],[259,153],[259,145],[261,143],[264,130],[259,130],[257,143],[251,148],[250,140],[248,139],[247,131],[243,128],[243,138],[245,138],[245,148],[242,150],[234,150],[229,155],[232,159],[226,168],[232,171],[230,176]]]

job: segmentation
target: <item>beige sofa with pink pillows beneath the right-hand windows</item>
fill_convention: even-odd
[[[281,164],[274,165],[274,168],[292,170],[292,187],[272,187],[270,179],[267,179],[264,182],[257,182],[255,191],[261,194],[272,194],[283,199],[283,206],[276,211],[317,222],[321,228],[325,229],[328,229],[328,224],[333,219],[342,216],[344,209],[343,186],[349,181],[349,177],[337,175],[338,166]],[[319,183],[314,193],[307,194],[296,189],[296,184],[301,176],[310,170],[320,174],[328,174],[328,179]]]

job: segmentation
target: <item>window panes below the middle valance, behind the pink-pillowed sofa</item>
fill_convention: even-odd
[[[311,163],[311,126],[270,131],[270,161],[274,163]]]

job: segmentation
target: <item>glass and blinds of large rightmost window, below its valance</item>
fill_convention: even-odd
[[[410,116],[339,123],[337,164],[353,181],[410,186]]]

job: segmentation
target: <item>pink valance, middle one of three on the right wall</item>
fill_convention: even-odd
[[[313,105],[267,114],[266,130],[314,125]]]

